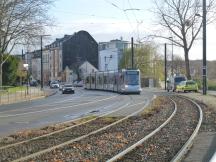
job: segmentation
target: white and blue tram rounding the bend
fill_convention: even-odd
[[[118,93],[140,94],[140,70],[122,69],[120,71],[93,72],[85,77],[85,88]]]

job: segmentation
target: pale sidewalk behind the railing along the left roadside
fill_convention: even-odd
[[[2,92],[0,94],[0,105],[12,104],[18,102],[31,101],[55,94],[57,90],[44,87],[43,91],[40,87],[29,87],[28,90],[21,90],[13,93]]]

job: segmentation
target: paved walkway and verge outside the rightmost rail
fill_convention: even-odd
[[[216,156],[216,92],[209,91],[206,96],[201,93],[182,93],[189,98],[203,102],[203,124],[193,146],[184,162],[209,162]],[[213,162],[213,161],[211,161]]]

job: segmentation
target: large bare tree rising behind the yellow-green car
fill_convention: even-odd
[[[191,79],[189,65],[189,51],[197,39],[202,27],[202,1],[201,0],[154,0],[159,24],[168,29],[172,37],[160,35],[159,37],[172,41],[184,49],[185,68],[188,79]],[[215,0],[209,0],[207,6],[208,22],[215,18],[213,15]],[[165,33],[165,32],[163,32]]]

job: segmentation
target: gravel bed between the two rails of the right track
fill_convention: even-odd
[[[160,132],[125,155],[118,162],[171,161],[193,133],[198,123],[198,110],[188,100],[173,97],[177,113]]]

